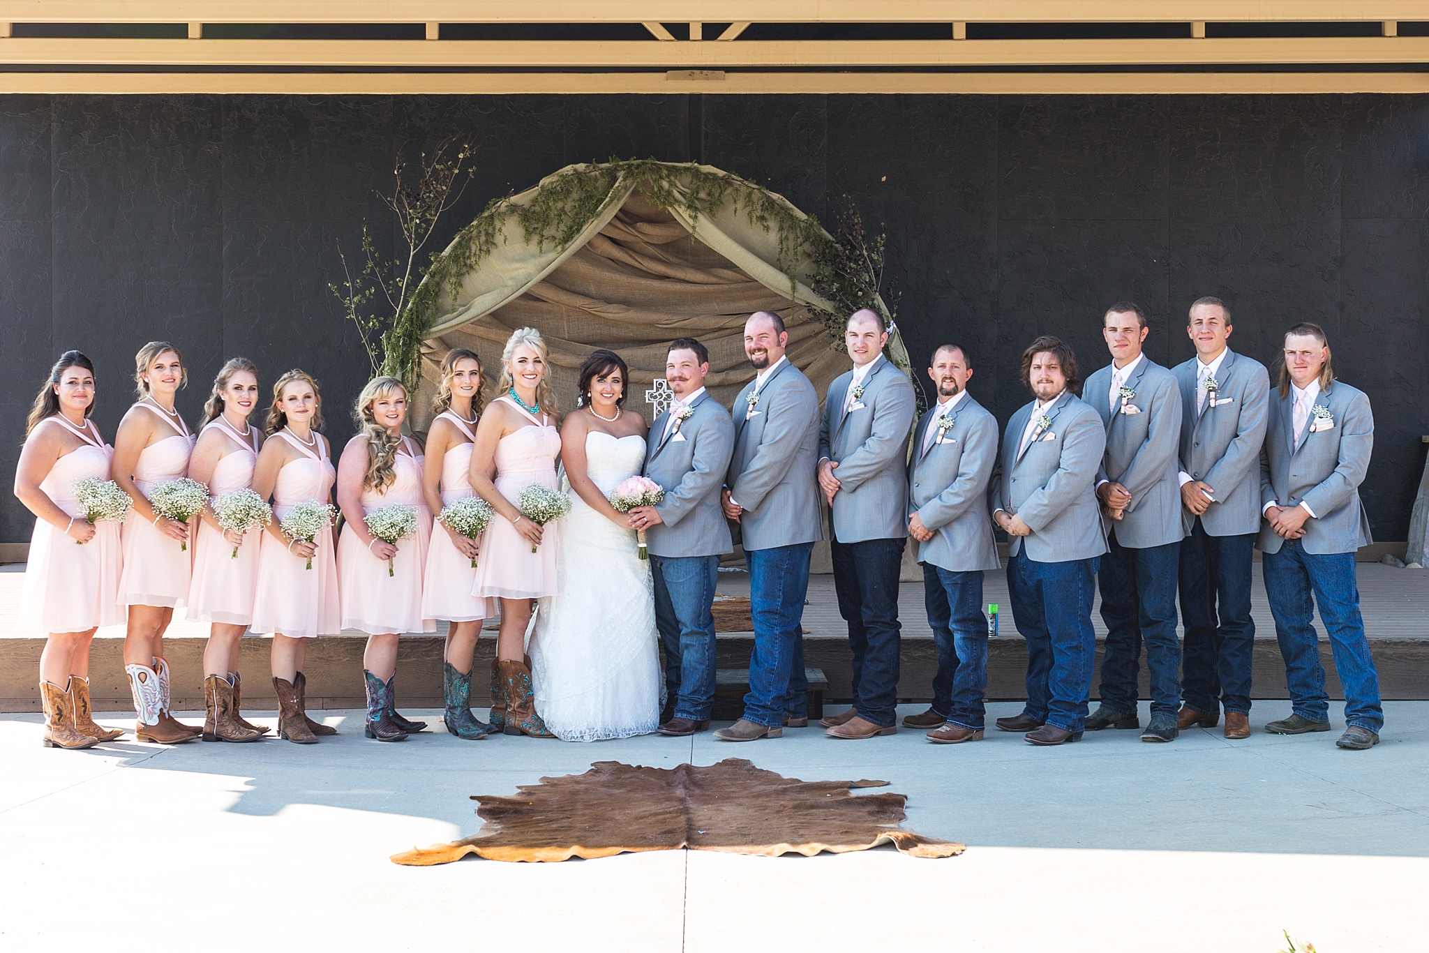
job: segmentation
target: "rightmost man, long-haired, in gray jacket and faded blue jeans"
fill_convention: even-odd
[[[1373,449],[1369,397],[1335,380],[1325,331],[1296,324],[1285,336],[1279,397],[1270,400],[1260,454],[1265,524],[1256,540],[1293,714],[1265,729],[1303,734],[1330,727],[1313,623],[1319,609],[1345,689],[1346,727],[1336,744],[1352,750],[1378,744],[1385,724],[1355,580],[1355,550],[1370,542],[1359,484]]]

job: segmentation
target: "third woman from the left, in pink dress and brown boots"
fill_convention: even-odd
[[[189,476],[209,486],[210,499],[253,486],[263,439],[249,423],[259,399],[259,370],[234,357],[219,370],[204,404],[204,423],[189,460]],[[243,720],[239,689],[239,639],[253,622],[259,536],[224,530],[204,507],[194,526],[189,619],[211,623],[203,652],[204,742],[256,742],[267,732]],[[247,544],[244,544],[247,543]]]

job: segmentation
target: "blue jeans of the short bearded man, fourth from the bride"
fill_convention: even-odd
[[[955,573],[923,563],[923,603],[937,646],[933,712],[953,724],[982,730],[983,693],[987,690],[982,570]]]

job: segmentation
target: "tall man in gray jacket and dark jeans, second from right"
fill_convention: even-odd
[[[1176,727],[1250,736],[1250,559],[1260,529],[1260,444],[1270,377],[1226,346],[1230,310],[1218,297],[1190,306],[1186,333],[1196,356],[1177,364],[1180,384],[1182,709]]]

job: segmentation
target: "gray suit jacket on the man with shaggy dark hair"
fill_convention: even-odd
[[[1022,431],[1037,401],[1012,414],[1002,437],[1000,473],[993,479],[993,510],[1020,516],[1032,536],[1013,536],[1009,554],[1026,546],[1027,559],[1070,563],[1106,552],[1096,471],[1106,450],[1106,429],[1096,410],[1063,391],[1045,413],[1052,427],[1017,453]]]

